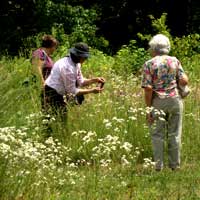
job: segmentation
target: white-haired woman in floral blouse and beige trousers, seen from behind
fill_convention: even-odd
[[[188,78],[176,57],[169,56],[170,42],[162,34],[149,42],[152,59],[144,64],[142,88],[149,109],[147,121],[150,125],[153,155],[157,171],[163,168],[164,140],[167,134],[169,167],[180,167],[180,143],[183,102],[178,94],[177,81],[182,86]]]

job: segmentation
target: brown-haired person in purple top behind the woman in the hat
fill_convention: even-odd
[[[44,85],[53,67],[51,55],[56,50],[58,41],[51,35],[42,37],[41,47],[32,53],[32,73],[37,81]]]

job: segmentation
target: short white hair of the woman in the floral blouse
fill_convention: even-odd
[[[168,54],[171,48],[169,38],[163,34],[153,36],[149,42],[149,47],[159,54]]]

